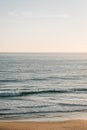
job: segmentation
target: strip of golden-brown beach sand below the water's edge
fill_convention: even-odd
[[[0,130],[87,130],[87,120],[64,122],[0,122]]]

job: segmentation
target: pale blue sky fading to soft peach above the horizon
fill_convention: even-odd
[[[0,52],[87,52],[87,0],[0,0]]]

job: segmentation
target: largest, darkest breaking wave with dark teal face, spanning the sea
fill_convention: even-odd
[[[87,93],[87,88],[77,88],[68,90],[41,90],[41,91],[4,91],[0,92],[0,97],[17,97],[17,96],[27,96],[36,94],[64,94],[64,93]]]

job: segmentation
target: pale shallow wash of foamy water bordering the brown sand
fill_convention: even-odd
[[[58,113],[50,116],[23,117],[14,116],[1,118],[0,122],[63,122],[70,120],[87,120],[87,112]]]

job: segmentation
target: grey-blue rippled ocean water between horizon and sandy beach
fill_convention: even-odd
[[[87,54],[0,53],[0,120],[81,115],[87,115]]]

